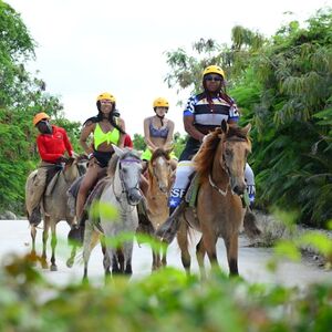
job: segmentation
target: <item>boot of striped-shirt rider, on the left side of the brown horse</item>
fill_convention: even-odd
[[[179,228],[179,216],[186,207],[186,203],[183,199],[181,203],[177,207],[169,208],[169,217],[166,221],[156,230],[156,236],[162,239],[162,241],[166,243],[170,243],[176,232]]]

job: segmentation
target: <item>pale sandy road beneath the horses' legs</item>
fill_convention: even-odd
[[[0,220],[0,263],[3,264],[11,255],[23,255],[31,250],[31,237],[29,222],[27,220]],[[58,225],[58,247],[56,247],[56,264],[58,271],[43,270],[38,267],[44,277],[59,286],[69,282],[79,282],[83,276],[82,253],[79,252],[73,268],[68,268],[65,264],[70,256],[70,248],[66,242],[69,226],[65,221]],[[41,253],[41,235],[39,229],[37,237],[38,253]],[[191,252],[195,248],[194,239]],[[292,262],[282,261],[278,264],[276,272],[269,272],[267,263],[273,257],[273,251],[270,248],[251,248],[248,247],[248,240],[240,237],[239,247],[239,272],[249,282],[264,283],[282,283],[284,286],[307,287],[313,282],[323,282],[332,280],[332,271],[325,271],[318,268],[315,264],[308,261]],[[50,259],[51,248],[48,246],[48,258]],[[218,241],[218,259],[221,269],[228,271],[225,246],[222,240]],[[168,266],[176,267],[183,270],[180,262],[179,249],[174,241],[168,249]],[[147,245],[141,247],[135,241],[133,253],[133,278],[142,278],[151,273],[152,253]],[[196,257],[191,259],[193,272],[198,273]],[[103,283],[103,263],[100,246],[94,249],[91,256],[89,266],[89,277],[91,282]]]

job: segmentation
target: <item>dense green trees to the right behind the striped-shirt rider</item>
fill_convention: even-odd
[[[299,210],[298,222],[324,227],[332,218],[332,10],[318,11],[305,28],[291,21],[270,39],[235,27],[231,40],[200,40],[194,56],[167,53],[166,80],[197,91],[205,65],[220,64],[240,124],[252,124],[257,206]]]

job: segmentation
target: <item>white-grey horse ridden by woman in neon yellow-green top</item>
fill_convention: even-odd
[[[115,154],[110,160],[108,176],[92,191],[94,198],[87,201],[89,219],[85,221],[83,260],[84,276],[87,278],[90,255],[100,234],[105,238],[104,269],[105,276],[113,273],[132,274],[133,238],[124,240],[116,248],[110,243],[122,234],[135,235],[138,226],[136,205],[143,198],[139,189],[142,174],[141,156],[134,149],[121,149],[113,145]],[[117,214],[107,214],[107,206],[115,207]]]

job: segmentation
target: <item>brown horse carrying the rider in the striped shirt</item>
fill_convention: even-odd
[[[251,151],[250,125],[240,128],[222,121],[220,128],[209,134],[194,158],[200,179],[197,208],[185,207],[177,232],[181,261],[189,272],[188,226],[201,232],[196,247],[200,273],[205,277],[204,258],[218,266],[216,243],[224,239],[230,274],[238,274],[238,235],[245,209],[240,195],[246,190],[245,166]]]

